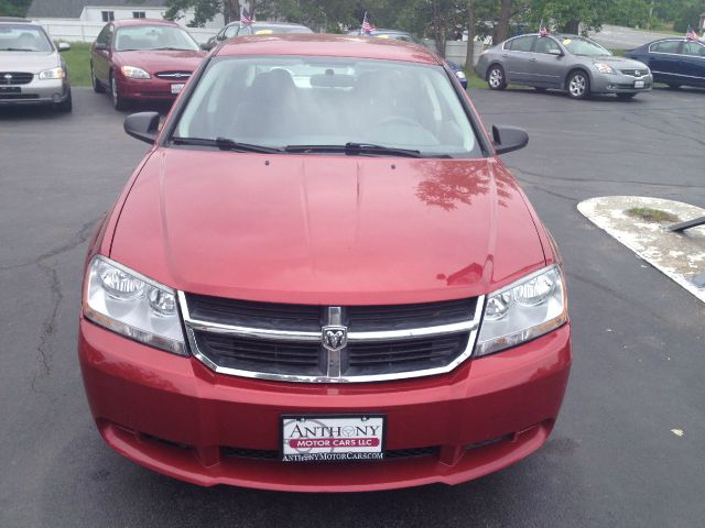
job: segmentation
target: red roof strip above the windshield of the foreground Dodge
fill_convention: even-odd
[[[216,55],[304,55],[440,64],[429,50],[403,41],[319,33],[239,36],[226,41]]]

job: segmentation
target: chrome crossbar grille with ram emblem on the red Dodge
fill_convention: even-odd
[[[471,355],[484,297],[329,307],[178,294],[192,353],[216,372],[304,383],[449,372]],[[327,342],[329,329],[345,338]]]

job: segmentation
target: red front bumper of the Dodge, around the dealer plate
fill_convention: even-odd
[[[458,484],[518,462],[545,442],[571,367],[568,324],[446,375],[345,386],[215,374],[85,319],[78,353],[100,435],[119,453],[199,485],[297,492]],[[389,452],[423,455],[275,459],[281,415],[371,413],[387,415]]]

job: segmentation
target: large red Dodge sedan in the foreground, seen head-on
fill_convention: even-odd
[[[210,55],[89,244],[100,435],[200,485],[457,484],[538,450],[571,329],[555,243],[431,52],[348,35]]]

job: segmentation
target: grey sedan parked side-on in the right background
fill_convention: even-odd
[[[482,52],[475,67],[492,90],[508,84],[539,90],[567,91],[573,99],[615,94],[631,99],[650,91],[649,68],[638,61],[614,56],[595,41],[578,35],[516,36]]]

